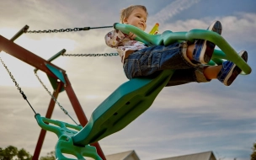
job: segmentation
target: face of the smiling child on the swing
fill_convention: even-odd
[[[123,20],[124,24],[131,24],[141,30],[147,28],[147,13],[142,8],[135,8],[128,18]]]

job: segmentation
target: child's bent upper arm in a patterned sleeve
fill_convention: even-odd
[[[121,45],[121,41],[125,38],[125,35],[118,29],[112,30],[105,35],[105,43],[111,48],[116,48]]]

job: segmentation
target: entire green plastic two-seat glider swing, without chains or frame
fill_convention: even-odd
[[[169,45],[177,40],[210,40],[221,49],[221,51],[214,51],[210,65],[216,65],[221,63],[222,59],[226,59],[236,63],[243,70],[243,74],[251,72],[251,67],[238,56],[227,41],[221,35],[209,30],[193,29],[189,32],[168,30],[161,35],[149,35],[128,24],[114,24],[114,28],[125,33],[133,32],[137,35],[137,40],[141,40],[147,45]],[[56,157],[58,159],[72,159],[62,155],[62,153],[67,153],[76,156],[78,159],[88,156],[98,160],[101,158],[97,156],[97,152],[89,144],[122,130],[131,121],[136,120],[152,105],[157,94],[172,77],[173,72],[173,70],[164,70],[152,77],[134,78],[123,83],[102,104],[99,104],[93,111],[88,124],[83,128],[57,120],[49,120],[40,115],[35,115],[35,118],[43,129],[55,132],[59,137],[56,144]],[[59,127],[47,123],[59,124]],[[77,131],[70,131],[67,127]]]

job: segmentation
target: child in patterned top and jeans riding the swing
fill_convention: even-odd
[[[147,27],[147,8],[141,5],[130,6],[120,13],[120,23],[131,24],[141,30]],[[214,22],[208,28],[221,35],[221,23]],[[113,30],[105,35],[106,45],[117,49],[123,62],[125,75],[133,77],[147,77],[154,72],[173,69],[175,72],[167,86],[184,83],[205,83],[211,79],[218,79],[226,86],[230,86],[241,69],[232,61],[224,61],[219,66],[207,66],[211,61],[215,44],[207,40],[195,40],[188,45],[187,41],[176,42],[168,46],[155,45],[148,47],[135,40],[136,35],[124,34],[120,30]],[[247,51],[241,51],[239,56],[248,60]]]

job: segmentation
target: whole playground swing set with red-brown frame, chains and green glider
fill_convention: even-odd
[[[140,40],[147,45],[169,45],[179,40],[189,40],[191,42],[197,39],[209,40],[215,43],[221,49],[214,51],[209,65],[214,66],[216,64],[221,64],[222,61],[228,60],[233,61],[239,68],[242,69],[243,72],[241,74],[247,75],[252,71],[251,67],[249,67],[248,64],[243,61],[240,56],[238,56],[237,51],[235,51],[221,35],[218,35],[210,30],[192,29],[189,30],[189,32],[172,32],[167,30],[164,31],[163,34],[152,35],[151,33],[147,34],[141,29],[129,24],[115,23],[110,27],[120,29],[124,33],[132,32],[136,35],[137,40]],[[139,115],[145,112],[152,105],[154,99],[157,97],[157,94],[160,93],[161,90],[166,86],[169,79],[172,77],[173,72],[175,72],[174,70],[163,70],[162,72],[159,72],[151,77],[134,78],[121,84],[119,88],[116,88],[107,99],[105,99],[96,109],[93,110],[90,120],[87,120],[83,113],[83,109],[72,89],[71,83],[68,80],[66,71],[51,63],[51,61],[56,59],[56,57],[61,55],[63,56],[66,50],[60,51],[46,61],[40,56],[36,56],[34,53],[27,51],[23,47],[13,43],[13,41],[23,33],[29,33],[27,29],[29,29],[29,26],[24,26],[24,28],[20,29],[11,40],[7,40],[0,35],[0,51],[5,51],[19,60],[35,67],[35,76],[39,79],[39,81],[40,77],[37,76],[36,72],[40,70],[46,73],[55,92],[51,94],[48,89],[45,88],[45,85],[40,81],[52,98],[45,117],[35,112],[35,109],[33,109],[31,104],[29,104],[29,101],[19,87],[19,84],[15,81],[11,72],[8,71],[8,67],[6,67],[1,58],[0,61],[8,71],[9,76],[13,79],[13,83],[15,83],[19,93],[22,94],[23,98],[28,102],[31,109],[33,109],[35,119],[37,120],[38,125],[40,125],[42,128],[35,147],[33,160],[39,159],[40,149],[45,139],[46,131],[54,132],[56,133],[56,136],[58,136],[58,141],[56,142],[55,147],[56,159],[58,160],[73,159],[65,157],[63,154],[73,155],[77,157],[77,159],[91,157],[95,160],[105,160],[106,158],[99,147],[98,141],[106,136],[122,130],[126,125],[129,125],[131,121],[136,120]],[[83,29],[67,31],[88,29],[93,28],[86,27]],[[63,30],[61,31],[63,32]],[[30,33],[35,32],[30,31]],[[87,56],[117,55],[118,54],[105,53]],[[68,115],[67,110],[65,110],[56,100],[58,94],[64,90],[67,92],[67,96],[71,101],[72,107],[75,110],[77,119],[81,125],[78,125],[77,122],[73,120],[70,115]],[[68,115],[74,121],[74,123],[76,123],[76,125],[68,124],[59,120],[51,120],[51,115],[55,104],[58,104],[64,113]]]

